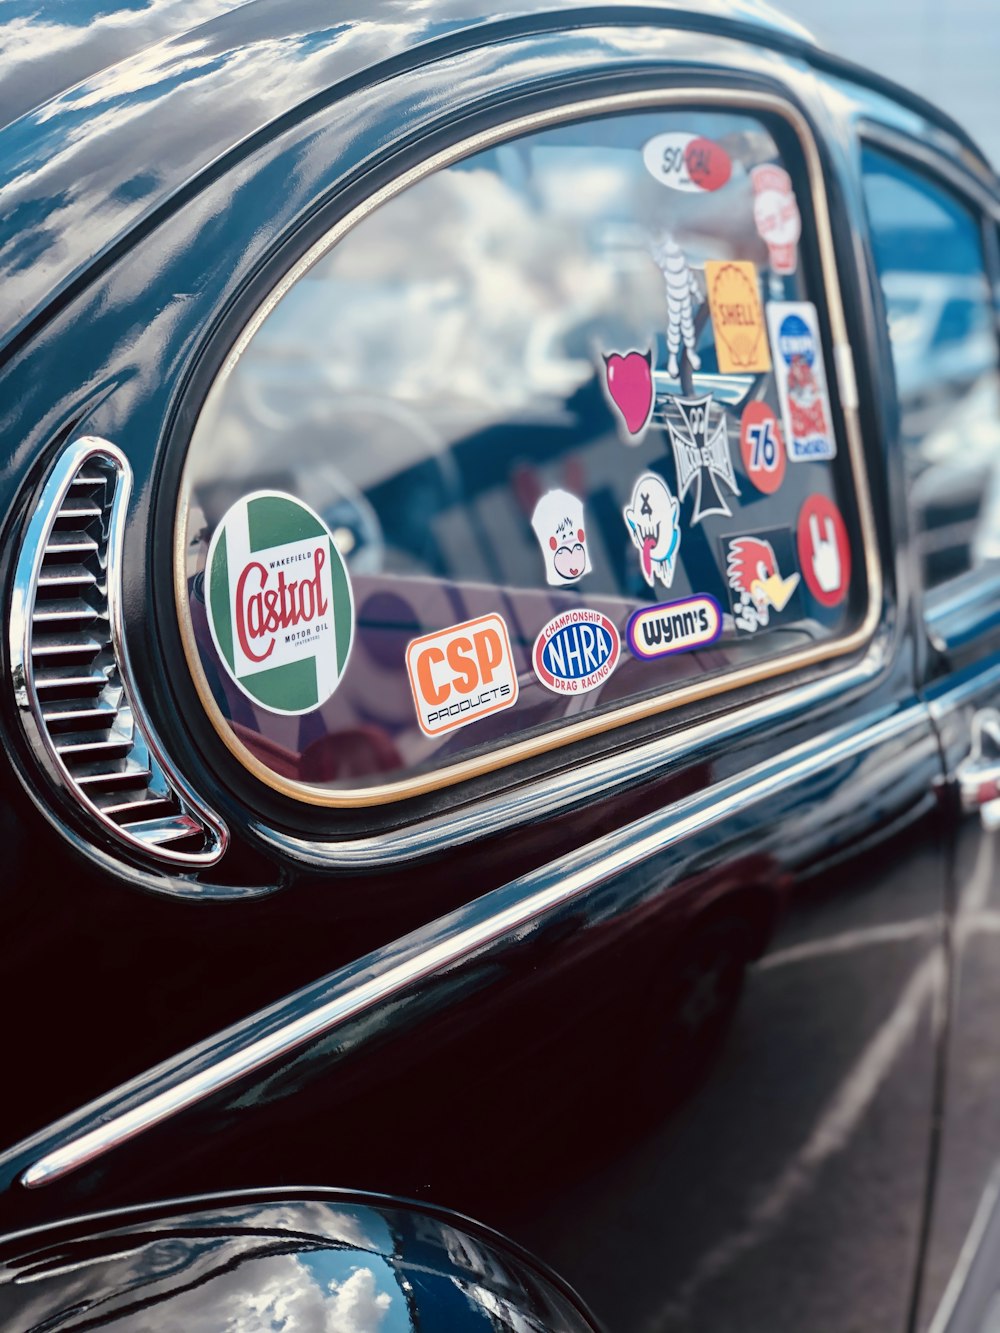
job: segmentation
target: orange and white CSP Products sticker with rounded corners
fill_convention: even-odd
[[[412,639],[407,672],[424,736],[453,732],[517,702],[511,639],[495,613]]]

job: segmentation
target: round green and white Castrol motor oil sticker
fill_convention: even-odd
[[[272,713],[308,713],[351,653],[351,580],[329,529],[295,496],[257,491],[225,513],[205,568],[212,643],[236,685]]]

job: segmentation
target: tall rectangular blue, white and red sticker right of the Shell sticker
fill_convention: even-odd
[[[811,301],[772,301],[768,327],[788,457],[792,463],[832,459],[837,441],[816,307]]]

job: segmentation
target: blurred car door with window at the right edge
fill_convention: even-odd
[[[864,177],[951,810],[952,985],[920,1322],[979,1328],[996,1305],[999,1257],[1000,204],[925,145],[877,131]]]

